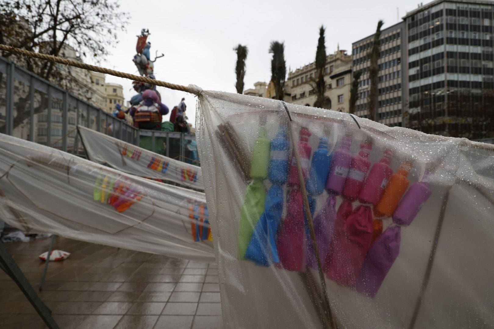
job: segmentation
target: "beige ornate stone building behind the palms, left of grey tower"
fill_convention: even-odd
[[[352,76],[352,56],[346,50],[338,50],[326,58],[324,80],[325,95],[329,97],[331,110],[348,112]],[[317,96],[314,90],[316,64],[310,63],[288,73],[285,82],[285,102],[314,106]]]

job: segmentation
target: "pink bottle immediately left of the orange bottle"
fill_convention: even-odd
[[[376,205],[377,202],[379,202],[379,199],[384,192],[384,188],[393,174],[393,171],[389,167],[392,158],[393,151],[386,149],[381,160],[374,163],[369,176],[367,176],[364,186],[360,190],[360,202],[371,203],[373,205]]]

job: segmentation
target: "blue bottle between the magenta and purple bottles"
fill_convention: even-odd
[[[321,137],[317,150],[312,154],[312,163],[307,178],[307,193],[309,195],[320,195],[324,191],[332,158],[332,154],[329,154],[328,143],[327,137]]]

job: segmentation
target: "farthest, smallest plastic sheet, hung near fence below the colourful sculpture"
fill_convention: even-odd
[[[91,161],[107,164],[127,174],[204,190],[201,167],[125,143],[81,125],[77,128]]]

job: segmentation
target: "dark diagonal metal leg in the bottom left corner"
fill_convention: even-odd
[[[3,242],[0,241],[0,267],[12,278],[12,280],[19,286],[19,289],[24,293],[31,305],[40,315],[43,322],[50,329],[59,329],[55,320],[51,316],[51,311],[41,301],[40,296],[33,289],[28,279],[24,276],[19,266],[17,266],[12,256],[7,252]]]

